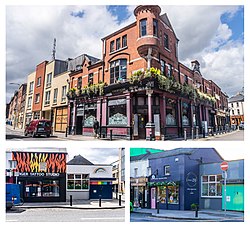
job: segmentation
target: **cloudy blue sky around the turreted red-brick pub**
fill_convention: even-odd
[[[6,6],[8,102],[37,64],[83,53],[101,58],[101,38],[135,21],[135,6]],[[229,96],[244,86],[244,6],[161,6],[179,38],[179,60],[197,59],[201,72]],[[235,82],[235,83],[232,83]]]

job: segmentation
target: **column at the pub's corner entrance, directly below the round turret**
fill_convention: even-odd
[[[152,122],[152,89],[147,89],[148,96],[148,123],[146,124],[146,140],[154,140],[155,139],[155,125]]]

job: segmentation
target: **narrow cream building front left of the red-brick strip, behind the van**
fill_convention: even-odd
[[[34,99],[34,86],[35,86],[36,71],[32,72],[27,77],[27,92],[26,92],[26,104],[24,112],[24,123],[28,124],[32,119],[32,106]]]

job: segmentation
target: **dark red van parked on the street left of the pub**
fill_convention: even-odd
[[[50,137],[50,120],[31,120],[30,123],[26,125],[24,135],[31,135],[32,137],[36,137],[37,135],[45,135],[47,137]]]

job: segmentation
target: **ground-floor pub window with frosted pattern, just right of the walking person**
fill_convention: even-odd
[[[110,100],[108,106],[108,124],[127,126],[128,118],[126,114],[126,100]]]

